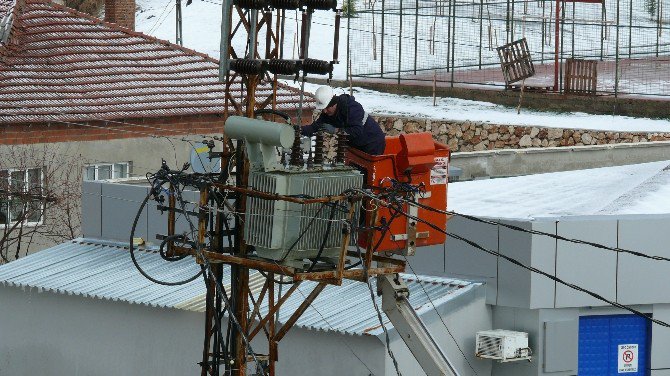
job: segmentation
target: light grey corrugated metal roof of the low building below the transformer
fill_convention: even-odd
[[[160,280],[183,280],[200,270],[192,258],[169,263],[155,251],[142,250],[136,254],[143,269]],[[225,267],[224,271],[224,281],[229,284],[230,269]],[[441,277],[403,275],[403,278],[410,289],[410,303],[419,313],[480,285]],[[263,276],[252,272],[250,280],[252,291],[258,292]],[[73,240],[1,265],[0,284],[196,312],[204,312],[205,306],[201,278],[175,287],[152,283],[137,271],[123,244],[91,239]],[[376,291],[374,279],[372,284]],[[316,283],[310,281],[300,285],[282,306],[280,322],[290,317],[314,286]],[[296,325],[344,334],[378,335],[381,327],[370,299],[365,283],[345,280],[340,287],[326,287]],[[381,307],[381,299],[376,299]],[[261,311],[267,312],[267,306]],[[388,322],[386,316],[384,319]],[[390,326],[389,323],[387,327]]]

